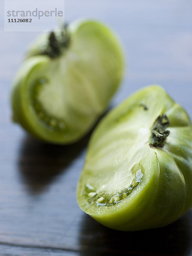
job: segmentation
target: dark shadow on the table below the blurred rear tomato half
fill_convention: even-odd
[[[31,195],[37,195],[64,172],[86,148],[90,134],[73,145],[52,145],[27,136],[20,145],[18,169]]]

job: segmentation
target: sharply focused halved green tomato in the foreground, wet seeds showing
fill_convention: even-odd
[[[163,88],[138,91],[100,122],[77,199],[101,224],[127,231],[165,226],[192,206],[192,125]]]

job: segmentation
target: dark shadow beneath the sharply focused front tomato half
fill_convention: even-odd
[[[79,233],[81,255],[189,256],[191,215],[189,211],[167,227],[135,232],[111,230],[83,215]]]

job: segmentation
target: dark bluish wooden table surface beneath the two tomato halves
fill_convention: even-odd
[[[0,3],[0,256],[192,255],[192,211],[168,227],[119,232],[76,203],[90,134],[79,143],[42,143],[11,122],[13,76],[38,33],[3,32]],[[191,0],[65,0],[65,16],[93,17],[116,31],[127,60],[115,106],[161,84],[192,117]]]

